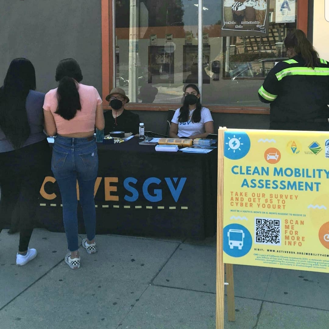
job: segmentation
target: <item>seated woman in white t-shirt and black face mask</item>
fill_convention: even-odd
[[[184,103],[171,120],[170,138],[206,138],[214,133],[214,120],[209,109],[200,103],[200,92],[193,84],[184,91]]]

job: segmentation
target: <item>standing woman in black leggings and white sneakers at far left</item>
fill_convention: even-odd
[[[28,245],[40,186],[50,168],[49,145],[43,133],[44,93],[35,89],[32,63],[25,58],[14,59],[0,88],[0,230],[18,200],[19,266],[37,256],[37,250]]]

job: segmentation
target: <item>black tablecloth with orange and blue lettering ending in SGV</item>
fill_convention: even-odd
[[[217,149],[156,152],[134,137],[98,143],[96,233],[204,239],[215,235]],[[79,233],[84,233],[78,206]],[[61,196],[50,172],[40,190],[40,226],[63,232]]]

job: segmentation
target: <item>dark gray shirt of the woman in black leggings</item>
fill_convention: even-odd
[[[30,125],[31,133],[22,147],[38,143],[47,136],[43,133],[43,101],[44,93],[30,90],[25,102],[27,119]],[[5,134],[0,129],[0,152],[13,151],[13,145],[7,140]]]

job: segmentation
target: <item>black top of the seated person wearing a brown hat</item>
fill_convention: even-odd
[[[139,115],[131,111],[123,110],[123,112],[116,118],[112,115],[112,110],[104,113],[105,128],[104,134],[108,135],[111,131],[124,131],[125,133],[139,133]]]

